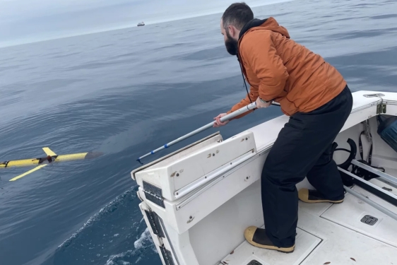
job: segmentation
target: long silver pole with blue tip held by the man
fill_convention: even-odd
[[[271,105],[276,105],[276,106],[280,106],[279,103],[277,102],[272,102]],[[239,114],[243,114],[245,112],[248,112],[249,110],[254,110],[254,108],[256,108],[256,102],[252,102],[251,104],[240,108],[239,110],[236,110],[235,112],[232,112],[230,114],[227,114],[225,116],[223,116],[222,118],[220,118],[220,122],[225,122],[229,119],[232,119],[236,116],[238,116]],[[190,136],[194,136],[194,134],[198,134],[201,131],[205,131],[206,129],[209,129],[213,126],[215,121],[210,122],[209,124],[206,124],[194,131],[191,131],[189,134],[185,134],[184,136],[179,137],[178,139],[175,139],[174,141],[171,141],[170,143],[166,143],[164,146],[161,146],[153,151],[151,151],[150,153],[147,153],[146,155],[142,155],[140,158],[138,158],[136,161],[138,161],[139,163],[141,163],[141,165],[143,165],[143,163],[141,162],[141,159],[148,157],[149,155],[153,155],[154,153],[157,153],[158,151],[161,151],[162,149],[165,148],[169,148],[170,146],[172,146],[174,143],[179,143],[180,141],[183,141],[184,139],[188,139]]]

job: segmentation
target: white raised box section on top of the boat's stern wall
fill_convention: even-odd
[[[188,194],[209,182],[211,177],[222,174],[218,171],[248,153],[256,153],[252,132],[245,131],[226,141],[222,141],[220,135],[215,135],[177,151],[170,157],[140,167],[131,172],[131,176],[153,196],[174,201],[182,193]]]

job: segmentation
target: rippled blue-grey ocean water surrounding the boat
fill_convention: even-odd
[[[226,8],[226,6],[225,6]],[[397,2],[302,0],[254,8],[336,66],[350,89],[397,92]],[[0,160],[101,151],[93,160],[0,170],[1,265],[160,265],[130,172],[138,156],[244,98],[220,14],[0,49]],[[228,138],[272,106],[208,129]]]

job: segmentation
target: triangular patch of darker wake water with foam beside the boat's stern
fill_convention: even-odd
[[[52,265],[158,264],[134,187],[90,217],[57,248]],[[114,254],[117,253],[117,254]]]

